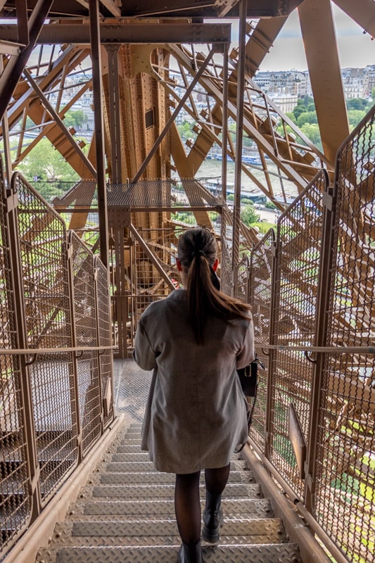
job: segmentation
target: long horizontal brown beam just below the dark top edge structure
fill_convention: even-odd
[[[100,41],[106,43],[163,44],[163,43],[228,43],[231,41],[229,23],[101,23]],[[17,27],[4,24],[1,38],[13,42]],[[44,25],[37,39],[38,45],[88,45],[90,26],[87,23],[57,23]]]

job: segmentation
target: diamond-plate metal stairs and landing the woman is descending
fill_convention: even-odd
[[[140,450],[141,423],[134,418],[142,403],[137,379],[145,383],[145,377],[132,360],[126,362],[115,378],[117,403],[125,413],[122,429],[65,521],[56,524],[36,563],[177,562],[180,539],[174,517],[174,476],[155,472],[148,454]],[[132,379],[138,400],[132,408],[129,387],[126,392],[122,388],[127,378]],[[269,500],[263,498],[239,454],[232,460],[223,509],[220,543],[203,544],[205,563],[301,563],[297,546],[287,543],[283,522],[272,517]]]

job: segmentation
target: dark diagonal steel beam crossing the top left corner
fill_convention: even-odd
[[[27,29],[29,30],[29,44],[18,56],[11,57],[8,60],[6,68],[0,77],[0,118],[4,115],[8,103],[18,84],[18,80],[23,73],[27,61],[31,55],[32,49],[37,42],[37,38],[46,16],[49,13],[49,8],[53,0],[38,0],[37,5],[32,10],[30,19],[28,21]]]

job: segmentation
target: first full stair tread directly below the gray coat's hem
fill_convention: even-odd
[[[204,475],[201,474],[201,483],[204,483]],[[108,472],[102,473],[100,482],[103,484],[170,484],[176,481],[176,476],[172,473],[160,472]],[[231,471],[228,483],[254,483],[253,475],[250,472]]]

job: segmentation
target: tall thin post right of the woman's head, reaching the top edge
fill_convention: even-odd
[[[236,121],[236,163],[234,169],[234,210],[232,236],[232,295],[236,294],[239,267],[239,239],[241,219],[241,158],[243,137],[243,92],[245,90],[246,61],[246,14],[248,1],[241,0],[239,25],[239,63],[237,65],[237,121]]]

